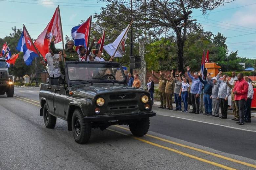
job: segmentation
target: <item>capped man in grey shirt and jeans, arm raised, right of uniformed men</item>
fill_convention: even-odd
[[[175,83],[174,87],[174,101],[176,104],[176,109],[177,111],[181,111],[181,97],[179,96],[180,91],[181,91],[181,82],[179,81],[179,75],[175,75],[175,78],[173,78],[173,72],[174,70],[171,71],[171,78],[173,79]]]

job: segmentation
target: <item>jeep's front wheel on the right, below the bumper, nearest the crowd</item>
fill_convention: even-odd
[[[133,123],[129,124],[129,128],[134,136],[144,136],[147,134],[149,129],[149,117],[134,120]]]

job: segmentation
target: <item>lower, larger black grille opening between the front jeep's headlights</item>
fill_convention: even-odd
[[[109,102],[109,110],[122,110],[122,109],[136,109],[137,101],[119,101],[119,102]]]

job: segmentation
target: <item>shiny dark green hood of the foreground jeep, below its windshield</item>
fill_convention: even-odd
[[[90,98],[93,99],[98,94],[105,94],[105,93],[113,93],[113,92],[145,92],[144,90],[129,87],[127,85],[121,84],[110,84],[110,83],[94,83],[92,86],[91,84],[79,85],[71,87],[70,91],[74,94],[74,97],[81,97],[81,98]]]

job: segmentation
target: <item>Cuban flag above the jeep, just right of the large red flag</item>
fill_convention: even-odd
[[[79,52],[79,46],[83,46],[88,50],[91,20],[92,17],[90,16],[82,25],[75,26],[71,29],[71,36],[77,52]]]

